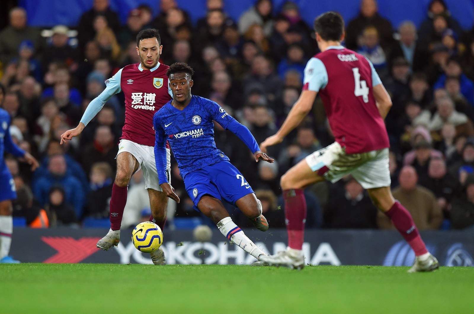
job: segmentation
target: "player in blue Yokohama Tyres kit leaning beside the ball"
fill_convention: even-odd
[[[221,200],[235,204],[261,231],[268,230],[268,222],[262,215],[262,204],[244,176],[216,148],[212,121],[236,134],[252,151],[256,162],[261,159],[273,163],[273,159],[261,152],[250,131],[216,102],[191,95],[192,74],[193,69],[185,63],[170,66],[166,75],[173,100],[157,111],[153,118],[155,162],[160,186],[168,197],[179,203],[179,197],[166,176],[165,144],[168,140],[194,209],[216,223],[228,240],[258,259],[264,252],[232,221]]]

